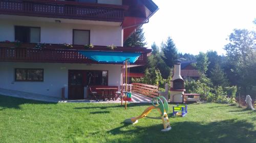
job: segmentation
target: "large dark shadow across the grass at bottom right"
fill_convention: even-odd
[[[178,122],[171,123],[171,126],[172,130],[161,132],[161,124],[150,127],[143,127],[140,123],[123,124],[108,133],[129,135],[118,139],[118,142],[256,142],[254,126],[246,121]]]

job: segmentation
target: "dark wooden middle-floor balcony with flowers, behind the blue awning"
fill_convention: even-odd
[[[67,48],[63,44],[46,44],[44,48],[35,48],[36,44],[17,45],[13,42],[0,42],[0,62],[38,62],[38,63],[81,63],[99,64],[83,56],[78,50],[113,51],[106,46],[94,46],[87,49],[83,45]],[[117,47],[114,51],[141,52],[134,65],[145,65],[147,53],[151,49],[134,47]],[[107,63],[105,63],[107,64]]]

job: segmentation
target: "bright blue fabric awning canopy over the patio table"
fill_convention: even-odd
[[[123,63],[129,60],[135,63],[140,56],[140,52],[116,52],[116,51],[79,51],[87,58],[101,63]]]

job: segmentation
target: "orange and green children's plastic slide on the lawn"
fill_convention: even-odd
[[[163,100],[163,101],[162,101]],[[152,106],[147,107],[140,116],[138,117],[133,117],[131,119],[126,119],[124,122],[125,123],[130,123],[130,124],[136,124],[138,123],[138,120],[141,118],[144,118],[148,115],[148,113],[151,112],[152,109],[157,109],[159,111],[159,113],[161,114],[161,119],[163,122],[163,127],[164,129],[162,129],[161,131],[169,131],[170,129],[172,129],[172,127],[170,127],[170,123],[169,123],[169,118],[167,115],[168,112],[168,103],[167,100],[162,97],[155,97],[152,100]]]

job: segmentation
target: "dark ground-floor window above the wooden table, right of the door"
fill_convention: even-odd
[[[108,71],[87,71],[87,85],[108,85]]]

